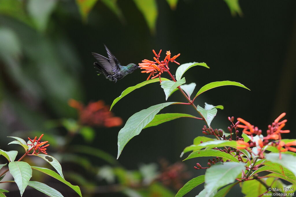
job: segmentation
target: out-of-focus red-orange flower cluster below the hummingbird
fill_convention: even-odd
[[[87,106],[70,99],[69,106],[78,110],[79,122],[82,125],[100,126],[100,127],[117,127],[122,124],[120,117],[114,117],[109,111],[110,107],[104,104],[104,101],[90,102]]]

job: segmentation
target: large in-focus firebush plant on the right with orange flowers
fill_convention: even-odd
[[[128,93],[157,81],[163,88],[165,100],[175,91],[180,91],[188,102],[165,102],[133,114],[118,133],[117,158],[119,158],[128,141],[139,135],[142,129],[180,117],[190,117],[203,120],[206,125],[200,129],[201,134],[214,138],[199,136],[194,139],[193,145],[186,147],[181,153],[182,157],[185,153],[192,151],[184,160],[195,159],[195,161],[198,161],[198,157],[210,157],[210,159],[208,159],[207,164],[196,163],[194,168],[197,170],[206,169],[205,175],[190,180],[178,191],[176,196],[184,196],[202,183],[204,183],[204,189],[197,195],[200,197],[225,196],[237,184],[242,188],[242,193],[247,196],[263,196],[265,193],[283,196],[285,193],[295,191],[296,148],[292,147],[296,145],[295,139],[281,138],[281,133],[290,132],[283,130],[287,120],[281,119],[285,116],[285,113],[282,113],[271,125],[268,125],[266,135],[263,135],[262,130],[258,127],[254,127],[242,118],[235,120],[234,117],[228,117],[230,126],[227,130],[229,133],[221,129],[213,129],[210,124],[217,114],[217,109],[223,109],[223,106],[213,106],[207,103],[205,103],[205,107],[196,106],[194,100],[205,91],[224,85],[248,88],[233,81],[217,81],[204,85],[193,97],[192,93],[196,84],[185,84],[185,77],[182,76],[194,66],[209,68],[207,64],[193,62],[180,65],[176,62],[176,58],[180,54],[171,57],[170,51],[167,51],[165,58],[161,60],[161,50],[158,54],[153,50],[153,53],[155,57],[152,61],[144,59],[142,63],[139,63],[139,67],[143,70],[141,72],[149,74],[147,80],[124,90],[113,101],[110,110]],[[170,62],[180,65],[175,75],[170,73]],[[167,72],[172,80],[161,77],[164,72]],[[196,109],[199,117],[181,113],[158,114],[161,109],[173,104],[191,105]],[[242,131],[240,131],[241,129]],[[289,185],[285,185],[287,183]],[[270,188],[278,189],[271,190]]]

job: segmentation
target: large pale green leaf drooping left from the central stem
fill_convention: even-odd
[[[147,109],[143,109],[140,112],[133,114],[124,127],[118,133],[118,154],[119,158],[124,146],[136,135],[141,133],[141,130],[153,120],[155,115],[164,107],[169,106],[175,102],[161,103],[153,105]]]

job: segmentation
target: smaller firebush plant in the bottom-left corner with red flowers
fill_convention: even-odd
[[[62,183],[65,183],[70,188],[72,188],[76,193],[78,193],[79,196],[81,195],[80,188],[78,186],[72,185],[68,181],[65,180],[62,167],[53,156],[49,156],[46,153],[46,147],[49,146],[48,141],[41,142],[41,138],[43,137],[43,134],[37,139],[37,136],[32,140],[30,138],[28,142],[23,140],[22,138],[18,137],[10,137],[14,138],[15,141],[10,142],[9,144],[19,144],[25,149],[25,154],[20,157],[17,161],[15,161],[15,158],[18,154],[17,151],[4,151],[0,149],[0,155],[4,156],[8,161],[8,168],[6,170],[3,170],[3,172],[0,173],[0,185],[1,183],[16,183],[17,187],[20,190],[20,196],[24,193],[26,187],[29,185],[32,188],[35,188],[38,191],[41,191],[42,193],[45,193],[48,196],[53,197],[62,197],[62,194],[55,190],[52,187],[49,187],[48,185],[37,182],[37,181],[30,181],[32,177],[32,169],[43,172],[46,175],[49,175],[57,180],[59,180]],[[27,162],[22,162],[21,160],[25,156],[38,156],[42,159],[44,159],[46,162],[48,162],[54,169],[58,172],[54,172],[51,169],[43,168],[43,167],[36,167],[36,166],[30,166]],[[7,164],[0,164],[0,170],[2,167],[5,167]],[[10,172],[12,177],[14,178],[13,181],[1,181],[7,172]],[[0,197],[5,197],[5,193],[9,192],[8,190],[0,189]]]

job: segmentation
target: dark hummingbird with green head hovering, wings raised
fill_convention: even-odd
[[[132,63],[126,66],[122,66],[120,62],[116,59],[116,57],[110,52],[107,46],[104,46],[109,59],[97,53],[91,54],[94,56],[94,58],[96,58],[96,62],[94,62],[94,65],[97,69],[99,69],[100,74],[102,73],[106,77],[106,79],[109,79],[110,81],[116,83],[117,80],[122,79],[124,76],[132,73],[138,68],[136,64]]]

